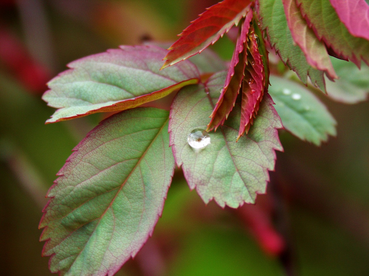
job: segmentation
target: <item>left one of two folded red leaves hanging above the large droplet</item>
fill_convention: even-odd
[[[234,103],[237,99],[239,93],[239,88],[241,87],[242,79],[244,78],[244,70],[246,63],[247,52],[245,48],[247,47],[247,33],[250,28],[250,22],[252,20],[252,11],[250,10],[245,18],[245,21],[241,27],[241,33],[239,34],[236,42],[236,47],[233,52],[231,64],[228,70],[227,78],[223,89],[220,92],[220,96],[217,104],[211,113],[211,121],[208,124],[207,131],[212,130],[219,125],[223,125],[225,119],[230,114]],[[244,47],[245,46],[245,47]]]

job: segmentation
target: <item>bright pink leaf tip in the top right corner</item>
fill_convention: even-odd
[[[330,0],[339,19],[356,37],[369,40],[369,5],[365,0]]]

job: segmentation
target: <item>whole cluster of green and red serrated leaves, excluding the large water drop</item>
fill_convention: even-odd
[[[44,93],[57,108],[46,123],[119,113],[73,149],[48,192],[40,227],[51,271],[117,272],[152,234],[175,165],[205,203],[238,208],[265,193],[275,151],[283,151],[278,129],[316,145],[335,135],[335,120],[313,91],[354,103],[369,89],[365,73],[352,79],[345,71],[358,69],[337,59],[368,72],[361,62],[369,63],[369,21],[354,15],[366,10],[367,17],[369,7],[348,3],[224,0],[194,20],[169,52],[146,43],[68,64]],[[227,64],[207,47],[236,27]],[[300,80],[277,70],[271,51]],[[142,106],[169,94],[169,111]],[[196,129],[214,130],[202,149],[187,143]]]

